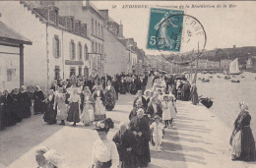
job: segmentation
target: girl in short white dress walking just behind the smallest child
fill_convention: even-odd
[[[170,128],[171,121],[171,102],[169,102],[168,95],[163,95],[162,107],[162,120],[164,121],[164,128]]]

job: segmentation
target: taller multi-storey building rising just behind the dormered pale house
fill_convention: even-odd
[[[60,9],[61,15],[74,16],[85,26],[87,36],[91,39],[91,47],[88,53],[90,75],[93,77],[102,75],[105,62],[104,18],[90,1],[54,1],[53,4]]]

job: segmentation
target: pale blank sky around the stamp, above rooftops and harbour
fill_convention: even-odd
[[[120,22],[123,24],[124,36],[133,37],[138,47],[144,49],[146,54],[160,54],[158,50],[147,49],[150,8],[161,8],[157,5],[189,6],[183,10],[186,14],[197,18],[205,28],[207,50],[231,48],[233,45],[236,47],[256,46],[256,2],[253,1],[91,1],[91,3],[97,9],[108,9],[109,16],[118,24]],[[125,5],[148,5],[148,8],[123,8]],[[215,5],[216,8],[192,8],[192,5]],[[217,8],[218,5],[221,5],[222,8]]]

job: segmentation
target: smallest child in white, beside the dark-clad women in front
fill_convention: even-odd
[[[162,141],[162,132],[163,132],[163,125],[160,123],[160,116],[156,115],[154,117],[155,122],[152,123],[151,129],[153,130],[153,140],[155,142],[156,149],[160,151],[160,144]]]

